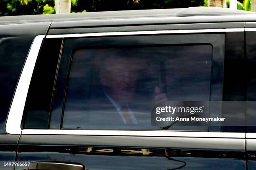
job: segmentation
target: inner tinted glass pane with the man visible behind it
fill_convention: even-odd
[[[211,71],[211,45],[74,49],[62,128],[159,129],[152,103],[209,101]]]

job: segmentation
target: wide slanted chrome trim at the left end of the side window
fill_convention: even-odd
[[[10,134],[21,133],[21,120],[28,94],[28,88],[36,65],[37,56],[45,35],[37,35],[30,47],[26,62],[20,74],[18,85],[15,90],[13,101],[9,110],[5,131]]]

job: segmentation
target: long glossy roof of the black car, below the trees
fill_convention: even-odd
[[[196,16],[194,18],[184,16]],[[205,16],[209,16],[205,17]],[[70,21],[64,23],[63,21]],[[127,10],[60,15],[26,15],[1,17],[0,24],[54,22],[51,28],[102,25],[150,25],[167,23],[218,23],[255,21],[255,13],[226,8],[190,7],[160,10]]]

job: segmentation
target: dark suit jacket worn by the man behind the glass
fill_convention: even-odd
[[[115,106],[110,102],[102,89],[93,92],[88,104],[90,111],[87,115],[87,122],[90,126],[99,125],[101,128],[104,126],[106,126],[106,128],[111,128],[113,126],[113,128],[115,127],[114,129],[118,126],[120,126],[120,128],[125,126],[151,126],[150,107],[145,108],[144,106],[133,102],[130,103],[129,108],[132,110],[138,124],[125,125]],[[148,105],[150,105],[150,103],[148,103]]]

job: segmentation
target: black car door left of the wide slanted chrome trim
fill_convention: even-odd
[[[0,24],[0,169],[13,169],[20,134],[8,134],[5,123],[19,75],[34,37],[50,23]]]

